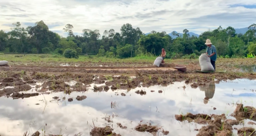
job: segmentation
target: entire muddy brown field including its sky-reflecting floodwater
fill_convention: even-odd
[[[256,73],[235,65],[30,64],[0,67],[0,136],[256,136]]]

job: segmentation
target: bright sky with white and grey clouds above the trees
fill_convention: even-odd
[[[66,24],[82,29],[115,29],[130,23],[144,33],[152,30],[201,34],[218,26],[248,27],[256,23],[256,0],[0,0],[0,29],[24,27],[43,20],[63,36]]]

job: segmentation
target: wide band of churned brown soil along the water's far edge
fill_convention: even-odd
[[[147,72],[133,69],[135,77],[132,76],[104,76],[104,75],[91,75],[88,73],[62,73],[62,74],[47,74],[40,72],[12,72],[2,71],[0,73],[0,96],[11,95],[16,93],[13,98],[27,98],[29,96],[36,96],[37,93],[51,92],[65,92],[70,94],[74,91],[85,92],[88,91],[87,87],[90,84],[103,84],[104,86],[93,86],[94,92],[117,90],[117,89],[131,89],[140,86],[148,87],[151,85],[170,85],[174,82],[185,81],[186,84],[190,84],[192,88],[198,86],[204,86],[205,83],[216,83],[220,81],[232,80],[237,78],[256,79],[256,73],[183,73],[183,72],[170,72],[169,74],[148,74]],[[153,70],[154,71],[154,70]],[[157,73],[157,71],[155,71]],[[153,72],[153,73],[155,73]],[[106,74],[108,75],[108,74]],[[76,81],[75,85],[66,84],[69,81]],[[36,85],[37,82],[43,82],[43,85]],[[142,84],[141,84],[142,83]],[[35,93],[31,94],[18,94],[17,92],[31,90],[31,85],[36,85]],[[11,87],[7,87],[11,86]],[[7,88],[6,88],[7,87]],[[32,89],[34,90],[34,89]],[[146,95],[146,92],[138,90],[135,93],[140,95]],[[159,90],[158,93],[163,93]],[[126,94],[121,94],[125,96]],[[83,100],[78,98],[77,100]],[[71,101],[71,100],[70,100]],[[249,109],[250,110],[250,109]]]

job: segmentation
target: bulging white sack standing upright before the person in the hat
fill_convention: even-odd
[[[199,64],[201,71],[215,71],[210,63],[210,57],[208,57],[205,53],[201,54],[199,57]]]

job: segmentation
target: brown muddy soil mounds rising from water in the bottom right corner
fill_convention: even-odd
[[[175,119],[178,121],[195,122],[197,124],[203,124],[205,126],[200,129],[196,136],[232,136],[234,125],[242,124],[242,119],[255,119],[256,109],[251,106],[243,107],[243,104],[237,104],[236,110],[231,114],[236,117],[234,119],[227,119],[225,114],[221,115],[207,115],[207,114],[192,114],[175,115]],[[254,122],[248,122],[249,125],[255,125]],[[256,130],[253,127],[242,127],[238,130],[238,136],[256,136]]]

